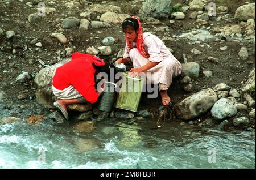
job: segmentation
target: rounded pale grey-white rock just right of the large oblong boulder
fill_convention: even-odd
[[[237,109],[228,100],[221,98],[213,105],[210,113],[215,119],[224,119],[236,115]]]

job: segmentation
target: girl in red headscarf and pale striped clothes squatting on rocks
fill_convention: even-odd
[[[181,64],[155,35],[143,33],[141,23],[136,17],[125,19],[122,29],[126,36],[125,54],[117,60],[118,63],[133,63],[132,74],[146,75],[147,81],[158,83],[162,103],[171,104],[167,90],[172,83],[172,77],[181,73]]]

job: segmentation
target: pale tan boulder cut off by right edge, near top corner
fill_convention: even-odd
[[[238,7],[234,18],[238,20],[255,19],[255,2]]]

